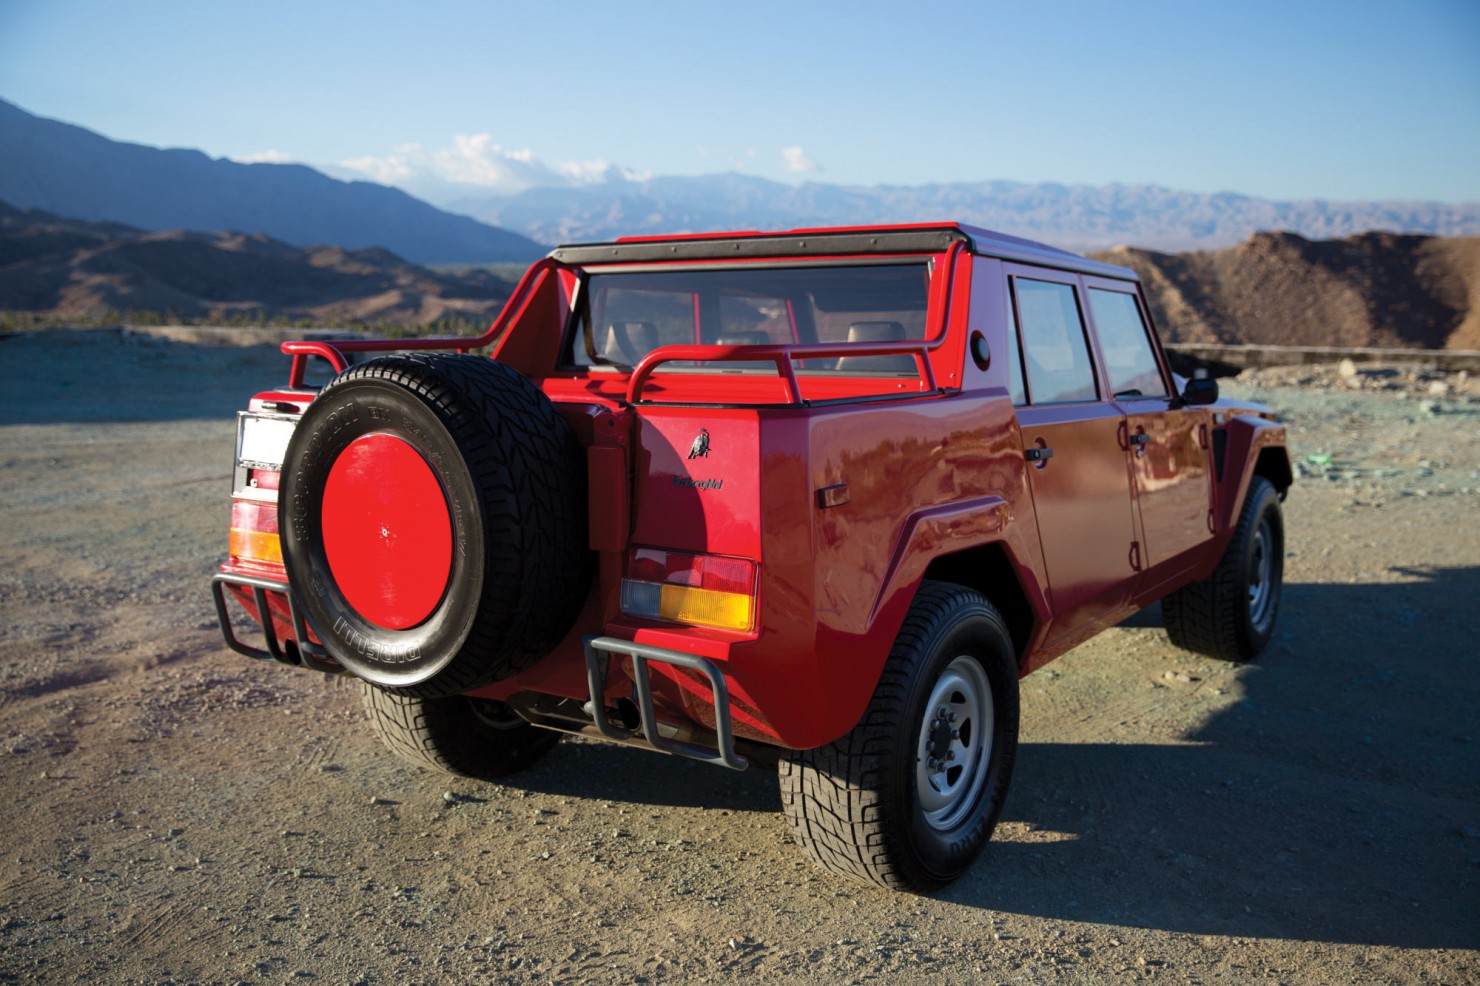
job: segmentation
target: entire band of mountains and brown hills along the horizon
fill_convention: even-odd
[[[527,262],[540,243],[617,235],[958,219],[1137,269],[1169,341],[1480,348],[1480,203],[792,187],[611,169],[598,182],[448,203],[475,219],[300,164],[111,141],[4,101],[0,150],[10,203],[0,201],[0,311],[477,324],[508,283],[425,265]]]

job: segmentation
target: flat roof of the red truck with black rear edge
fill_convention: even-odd
[[[1101,264],[1069,250],[959,222],[630,237],[610,243],[559,246],[549,256],[562,264],[579,265],[749,261],[759,258],[938,253],[949,249],[952,243],[963,243],[974,253],[1002,261],[1039,264],[1119,280],[1138,280],[1135,271],[1123,266]]]

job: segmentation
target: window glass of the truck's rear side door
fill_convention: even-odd
[[[1035,404],[1092,401],[1095,372],[1085,323],[1070,284],[1012,278],[1023,329],[1029,394]]]

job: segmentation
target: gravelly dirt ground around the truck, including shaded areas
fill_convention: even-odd
[[[0,339],[0,982],[1480,980],[1473,380],[1224,382],[1301,474],[1276,641],[1209,662],[1153,608],[1027,678],[995,842],[912,897],[807,863],[764,771],[438,776],[352,683],[228,651],[232,415],[283,375]]]

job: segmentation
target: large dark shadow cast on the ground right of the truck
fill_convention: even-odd
[[[1021,746],[999,838],[941,896],[1191,934],[1480,948],[1480,569],[1394,574],[1286,585],[1277,638],[1196,746]]]

